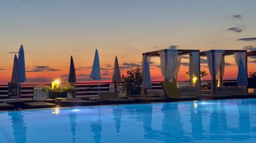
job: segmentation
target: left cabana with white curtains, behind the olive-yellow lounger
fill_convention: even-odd
[[[150,91],[152,88],[150,77],[150,63],[152,56],[160,57],[161,73],[164,76],[164,81],[175,82],[178,85],[178,73],[183,55],[189,55],[189,87],[180,87],[182,95],[199,95],[201,94],[200,80],[200,51],[185,50],[185,49],[162,49],[157,51],[142,53],[142,88],[141,95],[145,94],[145,89]],[[146,71],[145,71],[146,70]],[[193,83],[194,78],[194,83]]]

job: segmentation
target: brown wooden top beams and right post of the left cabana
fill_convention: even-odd
[[[162,49],[162,50],[156,50],[156,51],[150,51],[150,52],[144,52],[142,53],[142,55],[147,55],[147,56],[160,56],[160,52],[164,51],[165,53],[170,50],[170,49]],[[177,50],[178,51],[178,55],[190,55],[192,54],[192,52],[199,52],[200,53],[200,50],[188,50],[188,49],[174,49],[174,50]],[[200,75],[200,57],[199,57],[199,75]],[[199,85],[200,85],[200,91],[199,93],[201,93],[201,79],[200,77],[198,78],[199,80]]]

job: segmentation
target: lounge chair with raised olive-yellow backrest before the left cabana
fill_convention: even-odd
[[[179,89],[174,82],[162,82],[161,83],[165,96],[168,99],[178,99],[178,100],[197,100],[197,96],[182,96]]]

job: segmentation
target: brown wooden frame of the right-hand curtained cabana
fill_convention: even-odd
[[[201,51],[200,52],[200,56],[207,56],[207,54],[206,54],[206,52],[212,52],[212,61],[214,61],[214,53],[216,52],[216,51],[220,51],[220,50],[207,50],[207,51]],[[247,56],[248,56],[248,52],[247,52],[247,50],[221,50],[223,53],[222,53],[222,55],[224,55],[224,56],[226,56],[226,55],[233,55],[234,54],[234,52],[245,52],[246,53],[246,57],[245,57],[245,71],[246,71],[246,74],[248,74],[248,71],[247,71]],[[251,54],[251,53],[250,53]],[[213,65],[213,64],[212,64]],[[215,69],[214,69],[214,66],[212,66],[212,70],[214,71]],[[216,77],[217,75],[213,75],[213,77]],[[248,76],[248,75],[247,75]],[[212,79],[212,83],[216,83],[217,82],[217,80],[216,80],[216,78],[215,79]],[[212,84],[211,83],[211,84]],[[216,84],[213,84],[213,87],[214,87],[214,89],[216,89],[216,90],[214,90],[214,94],[217,94],[217,86],[216,86]],[[246,86],[246,92],[248,93],[248,86]]]

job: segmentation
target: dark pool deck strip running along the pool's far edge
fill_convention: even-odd
[[[200,100],[222,100],[222,99],[249,99],[256,98],[256,93],[250,94],[221,94],[221,95],[208,95],[201,94],[196,99],[167,99],[163,97],[147,96],[127,96],[127,98],[135,99],[127,102],[110,102],[108,100],[92,101],[89,99],[79,98],[62,98],[54,100],[2,100],[0,103],[0,111],[17,111],[27,109],[45,109],[45,108],[62,108],[62,107],[83,107],[83,106],[104,106],[104,105],[127,105],[127,104],[145,104],[145,103],[164,103],[164,102],[187,102],[187,101],[200,101]],[[9,104],[9,105],[8,105]]]

